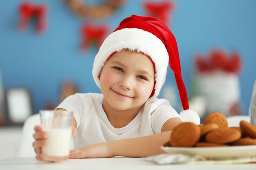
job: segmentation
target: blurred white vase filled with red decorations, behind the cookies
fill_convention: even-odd
[[[202,95],[206,112],[218,111],[226,116],[242,115],[238,76],[242,61],[237,51],[227,53],[213,49],[208,55],[195,55],[193,95]]]

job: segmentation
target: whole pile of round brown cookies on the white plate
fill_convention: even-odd
[[[211,147],[256,145],[256,126],[240,121],[238,127],[228,127],[225,115],[213,112],[204,124],[184,122],[173,128],[171,133],[173,147]]]

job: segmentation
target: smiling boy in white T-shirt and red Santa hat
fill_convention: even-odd
[[[185,110],[180,115],[166,99],[156,98],[166,79],[168,60]],[[70,158],[160,154],[173,127],[182,121],[200,124],[197,113],[188,110],[175,37],[157,18],[124,19],[103,42],[92,73],[102,94],[72,95],[56,108],[74,112],[76,149],[70,151]],[[55,161],[41,153],[47,134],[40,126],[35,131],[36,159]]]

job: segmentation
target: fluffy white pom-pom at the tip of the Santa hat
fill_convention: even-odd
[[[183,110],[180,113],[180,117],[183,122],[193,122],[194,124],[200,124],[200,117],[199,115],[193,110]]]

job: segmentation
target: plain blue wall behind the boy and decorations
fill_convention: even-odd
[[[49,5],[49,27],[38,36],[33,25],[25,33],[18,32],[18,5],[21,0],[0,1],[0,71],[4,88],[25,86],[31,90],[34,111],[47,100],[58,101],[60,84],[71,79],[80,92],[100,92],[92,78],[96,49],[88,53],[78,50],[79,29],[85,21],[77,18],[61,0],[34,0]],[[240,75],[241,101],[247,115],[256,79],[256,0],[176,0],[177,11],[170,26],[180,51],[184,83],[191,88],[192,57],[220,46],[238,50],[243,57]],[[130,0],[106,20],[112,29],[132,15],[144,15],[141,1]],[[173,82],[168,70],[167,81]],[[161,96],[160,96],[161,97]]]

